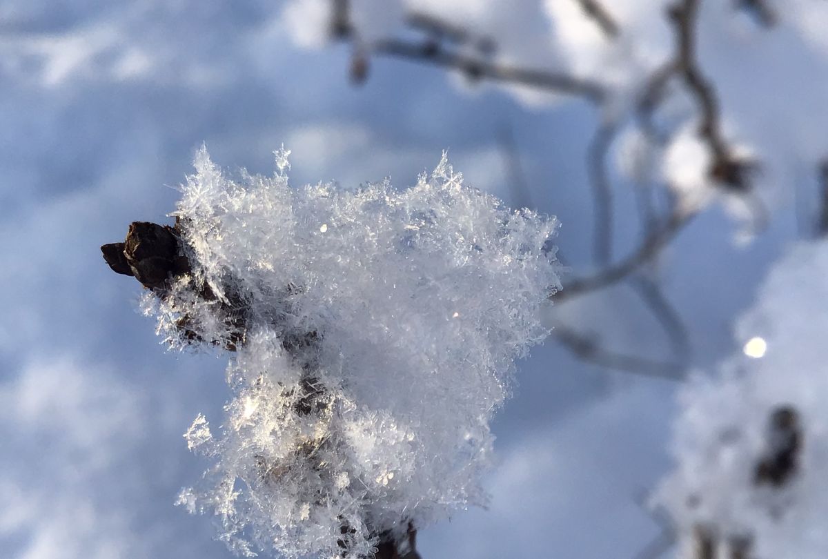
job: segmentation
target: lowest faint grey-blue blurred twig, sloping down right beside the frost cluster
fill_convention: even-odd
[[[602,348],[596,342],[595,336],[580,334],[564,325],[555,325],[552,332],[556,340],[579,359],[607,369],[669,380],[678,380],[685,373],[685,368],[681,364],[622,354]]]

